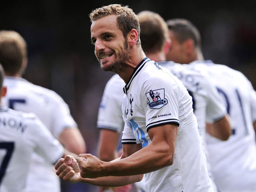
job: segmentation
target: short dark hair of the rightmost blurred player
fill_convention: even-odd
[[[200,32],[196,26],[192,24],[192,22],[182,18],[170,19],[166,22],[168,29],[172,30],[175,38],[180,44],[182,44],[187,39],[192,39],[194,41],[195,47],[201,50]]]

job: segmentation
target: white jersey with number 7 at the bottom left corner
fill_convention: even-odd
[[[34,114],[0,107],[1,192],[26,191],[34,152],[51,165],[63,156],[64,148]]]

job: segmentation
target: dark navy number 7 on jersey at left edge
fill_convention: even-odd
[[[4,156],[2,164],[0,166],[0,185],[1,185],[6,168],[12,157],[12,152],[14,150],[14,142],[0,142],[0,149],[6,150],[6,155]]]

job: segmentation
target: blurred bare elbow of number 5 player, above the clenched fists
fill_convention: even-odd
[[[86,152],[86,144],[77,128],[66,128],[59,136],[60,143],[70,152],[81,154]]]

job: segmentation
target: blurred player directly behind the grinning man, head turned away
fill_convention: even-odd
[[[171,42],[168,26],[159,14],[142,11],[138,13],[138,18],[141,29],[140,40],[146,56],[174,73],[192,96],[194,114],[203,137],[205,153],[208,154],[205,145],[205,122],[212,124],[211,134],[220,140],[227,140],[231,134],[227,111],[219,102],[217,89],[202,73],[190,69],[187,65],[166,61],[166,53],[170,49]],[[214,181],[209,164],[208,173]]]

